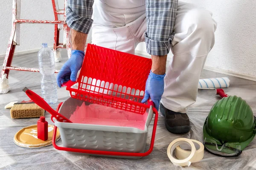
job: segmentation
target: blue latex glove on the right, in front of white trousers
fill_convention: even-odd
[[[160,100],[163,95],[163,89],[164,89],[164,75],[158,75],[154,74],[150,71],[150,74],[148,75],[148,79],[146,82],[146,89],[145,89],[145,95],[142,103],[145,103],[148,101],[149,97],[154,102],[155,108],[159,109]]]

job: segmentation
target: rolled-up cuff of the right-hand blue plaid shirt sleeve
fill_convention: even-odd
[[[148,54],[154,56],[164,56],[169,54],[173,37],[174,33],[169,36],[167,41],[157,41],[148,38],[147,33],[145,32],[145,43]]]

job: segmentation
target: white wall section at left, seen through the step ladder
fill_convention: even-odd
[[[54,20],[52,1],[21,0],[20,15],[21,19]],[[12,0],[1,0],[0,22],[0,54],[5,54],[12,29]],[[15,52],[41,48],[43,42],[53,46],[53,37],[54,25],[52,24],[20,24],[20,45],[16,47]],[[61,34],[61,41],[62,39]]]

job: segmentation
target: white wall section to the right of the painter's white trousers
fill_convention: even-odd
[[[205,68],[256,79],[256,0],[183,1],[212,11],[218,23]],[[145,43],[137,50],[145,54]]]

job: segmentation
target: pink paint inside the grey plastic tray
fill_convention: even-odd
[[[90,125],[136,127],[144,130],[147,117],[147,112],[142,115],[98,104],[85,105],[83,102],[81,106],[76,107],[70,121]]]

